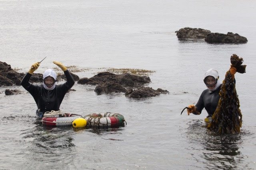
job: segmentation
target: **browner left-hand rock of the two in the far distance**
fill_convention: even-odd
[[[178,39],[204,39],[211,31],[201,28],[185,27],[175,31]]]

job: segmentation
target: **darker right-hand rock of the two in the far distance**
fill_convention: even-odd
[[[228,32],[227,34],[222,33],[210,33],[205,39],[207,43],[228,43],[228,44],[244,44],[247,43],[248,40],[246,37],[242,37],[237,33]]]

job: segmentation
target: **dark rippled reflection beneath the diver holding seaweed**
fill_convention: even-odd
[[[239,151],[242,134],[219,135],[206,129],[206,123],[195,121],[189,123],[187,138],[193,144],[201,144],[199,155],[207,160],[208,168],[238,168],[244,155]],[[198,154],[198,153],[197,153]]]

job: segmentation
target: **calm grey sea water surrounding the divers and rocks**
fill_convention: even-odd
[[[0,61],[12,68],[26,72],[47,56],[36,72],[55,67],[52,61],[88,68],[76,73],[80,78],[109,67],[148,69],[156,71],[148,86],[170,92],[132,100],[75,84],[62,111],[116,112],[127,122],[95,130],[42,126],[29,93],[0,87],[0,169],[255,169],[255,6],[252,0],[0,0]],[[183,27],[238,33],[248,43],[178,41],[174,31]],[[180,111],[196,104],[206,70],[216,68],[224,78],[234,53],[248,65],[236,74],[243,125],[238,135],[215,135],[205,127],[205,110]],[[23,94],[4,96],[6,88]]]

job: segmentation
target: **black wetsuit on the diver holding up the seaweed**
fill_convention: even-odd
[[[221,86],[222,84],[213,92],[208,89],[204,90],[196,104],[196,110],[201,113],[202,109],[205,108],[208,113],[207,117],[211,117],[218,106]]]

